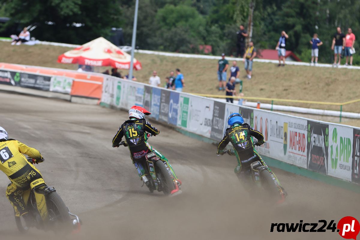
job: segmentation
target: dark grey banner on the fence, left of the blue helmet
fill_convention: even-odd
[[[221,140],[224,137],[224,117],[225,117],[225,103],[214,102],[214,110],[212,113],[212,125],[211,125],[211,139]]]

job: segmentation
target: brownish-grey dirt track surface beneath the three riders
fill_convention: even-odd
[[[42,153],[45,181],[82,218],[76,236],[32,230],[26,239],[341,239],[337,233],[270,232],[271,223],[317,222],[360,217],[360,194],[273,169],[288,191],[281,206],[251,201],[234,175],[236,159],[217,157],[216,147],[165,126],[149,142],[183,181],[183,194],[150,194],[127,148],[111,140],[125,112],[62,100],[0,92],[0,126],[9,137]],[[0,236],[23,239],[0,175]]]

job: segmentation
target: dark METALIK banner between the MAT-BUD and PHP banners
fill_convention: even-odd
[[[329,125],[307,121],[307,169],[327,175]]]

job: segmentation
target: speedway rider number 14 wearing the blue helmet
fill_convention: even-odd
[[[255,151],[251,139],[251,136],[254,136],[257,139],[257,145],[260,146],[264,144],[264,136],[261,132],[254,130],[250,125],[244,123],[244,119],[239,113],[231,114],[228,118],[228,124],[230,127],[226,129],[224,138],[217,147],[217,154],[223,153],[226,145],[231,142],[234,150],[230,154],[235,155],[238,160],[238,166],[234,169],[235,174],[240,181],[246,183],[249,179],[246,173],[251,163],[260,161],[263,166],[266,166],[260,155]],[[275,174],[269,168],[267,168],[267,171],[273,174],[276,181],[278,181]],[[284,192],[280,183],[278,186]]]

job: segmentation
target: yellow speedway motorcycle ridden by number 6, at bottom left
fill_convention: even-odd
[[[31,158],[27,160],[31,164],[35,163]],[[16,226],[20,232],[25,233],[31,227],[64,233],[80,231],[81,220],[69,211],[54,187],[47,186],[42,178],[31,182],[30,186],[22,198],[29,208],[27,214],[33,221],[25,221],[22,216],[15,216]]]

